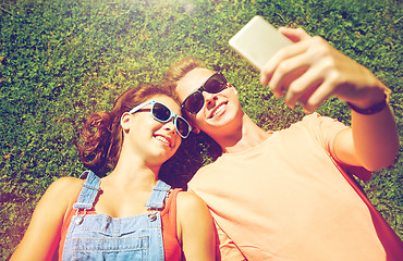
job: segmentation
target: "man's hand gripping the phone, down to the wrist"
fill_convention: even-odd
[[[384,99],[387,87],[366,67],[342,54],[321,37],[310,37],[302,28],[280,28],[295,44],[281,49],[264,66],[260,83],[285,104],[296,103],[315,111],[335,96],[358,108],[369,108]]]

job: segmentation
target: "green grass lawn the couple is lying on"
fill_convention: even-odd
[[[74,140],[85,117],[143,82],[161,80],[169,64],[193,54],[223,71],[245,111],[265,129],[301,120],[258,84],[258,73],[228,46],[249,18],[301,26],[373,71],[393,91],[402,136],[402,5],[384,0],[5,0],[0,3],[0,257],[21,240],[46,188],[85,169]],[[349,109],[329,100],[318,112],[349,124]],[[180,151],[176,172],[209,162],[202,136]],[[403,139],[401,138],[401,144]],[[370,201],[403,238],[403,167],[363,184]],[[182,159],[183,159],[182,158]],[[187,170],[187,172],[186,172]],[[183,172],[183,173],[182,173]],[[183,179],[184,181],[184,179]]]

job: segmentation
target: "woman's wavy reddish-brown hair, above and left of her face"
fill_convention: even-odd
[[[113,170],[123,144],[122,114],[158,95],[171,97],[178,102],[170,89],[143,84],[118,96],[110,112],[90,114],[80,132],[81,142],[76,144],[80,160],[100,176]]]

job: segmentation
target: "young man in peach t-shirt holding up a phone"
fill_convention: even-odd
[[[352,109],[351,127],[314,113],[265,132],[235,88],[199,60],[181,60],[166,76],[194,129],[223,150],[188,184],[212,213],[222,260],[398,260],[402,241],[343,171],[393,163],[389,89],[322,38],[280,32],[295,44],[267,63],[261,84],[307,112],[335,96]]]

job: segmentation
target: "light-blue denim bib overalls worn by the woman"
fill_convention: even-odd
[[[146,203],[148,213],[129,217],[86,215],[93,209],[100,179],[91,171],[83,175],[87,179],[73,206],[76,214],[68,229],[62,260],[164,260],[159,210],[171,187],[158,181]]]

